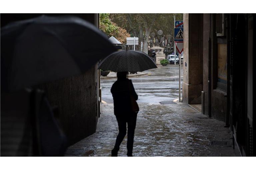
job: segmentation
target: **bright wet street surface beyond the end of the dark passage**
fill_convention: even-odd
[[[150,75],[129,78],[139,96],[139,103],[157,104],[162,101],[173,101],[179,97],[179,67],[164,66],[144,72],[149,72]],[[115,81],[116,78],[101,80],[102,100],[107,103],[113,103],[110,88]],[[182,82],[183,69],[181,69],[181,84]]]

